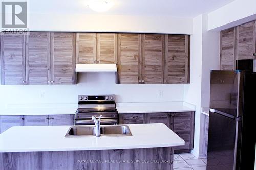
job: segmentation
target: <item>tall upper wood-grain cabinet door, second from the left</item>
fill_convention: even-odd
[[[26,36],[26,84],[50,84],[50,33]]]

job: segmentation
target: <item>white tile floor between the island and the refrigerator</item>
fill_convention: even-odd
[[[174,169],[206,170],[206,159],[197,159],[193,154],[174,154]]]

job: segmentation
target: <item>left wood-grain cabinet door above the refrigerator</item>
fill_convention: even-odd
[[[235,56],[235,41],[236,29],[230,28],[221,31],[220,34],[220,70],[235,70],[236,56]]]

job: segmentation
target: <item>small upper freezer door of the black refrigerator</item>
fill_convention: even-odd
[[[241,117],[243,78],[242,71],[211,71],[210,108]]]

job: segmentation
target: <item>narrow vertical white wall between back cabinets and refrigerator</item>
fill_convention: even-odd
[[[195,139],[193,154],[199,157],[201,81],[202,81],[202,15],[193,18],[193,34],[190,37],[190,84],[184,85],[184,101],[196,105]]]

